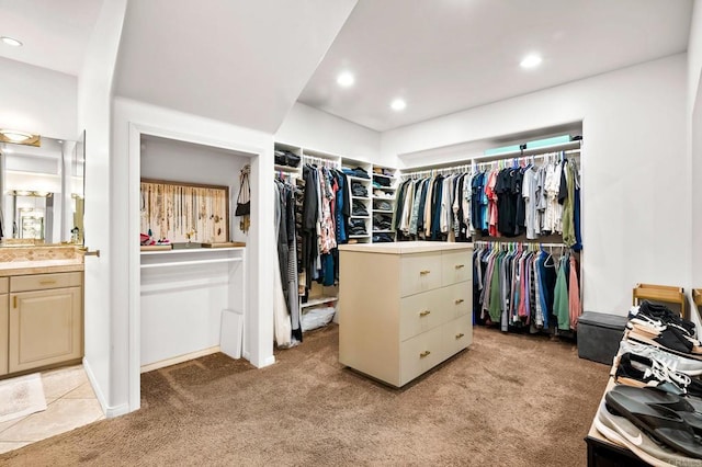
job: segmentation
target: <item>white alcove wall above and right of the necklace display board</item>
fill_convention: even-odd
[[[141,140],[141,178],[229,187],[229,240],[247,241],[234,216],[239,171],[250,158],[234,151],[161,138]]]

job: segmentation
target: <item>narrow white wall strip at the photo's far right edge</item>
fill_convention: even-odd
[[[692,272],[690,285],[702,287],[702,2],[697,0],[692,11],[688,43],[688,116],[690,134],[690,176],[692,205]]]

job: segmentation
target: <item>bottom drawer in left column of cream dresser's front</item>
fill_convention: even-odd
[[[399,385],[415,379],[445,358],[443,327],[431,329],[400,343]]]

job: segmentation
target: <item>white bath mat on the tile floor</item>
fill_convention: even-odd
[[[0,380],[0,423],[46,410],[42,375]]]

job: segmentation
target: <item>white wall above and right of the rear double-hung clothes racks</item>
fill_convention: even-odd
[[[582,121],[584,307],[624,315],[637,282],[689,281],[686,58],[676,55],[387,132],[382,153],[390,158]]]

